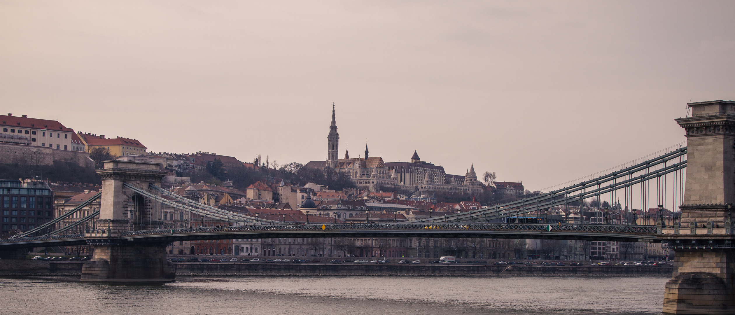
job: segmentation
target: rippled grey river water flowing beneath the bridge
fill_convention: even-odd
[[[664,277],[0,278],[1,314],[661,314]]]

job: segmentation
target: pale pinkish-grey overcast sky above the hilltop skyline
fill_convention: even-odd
[[[0,1],[0,106],[149,151],[421,159],[542,189],[735,100],[735,1]]]

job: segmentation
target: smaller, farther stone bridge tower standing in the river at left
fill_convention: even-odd
[[[143,188],[160,185],[166,172],[156,163],[107,161],[103,165],[97,170],[102,178],[99,229],[85,234],[87,244],[94,246],[94,254],[82,267],[82,281],[173,281],[176,269],[166,261],[166,244],[121,239],[124,231],[158,228],[160,217],[154,203],[126,189],[123,183]]]

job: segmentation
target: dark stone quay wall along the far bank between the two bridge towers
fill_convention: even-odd
[[[176,263],[176,275],[404,275],[404,276],[655,276],[669,277],[673,267],[508,266],[465,264],[264,264]]]

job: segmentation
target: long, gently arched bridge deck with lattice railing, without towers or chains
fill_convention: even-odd
[[[549,230],[551,228],[551,231]],[[487,239],[566,239],[585,241],[660,242],[651,225],[584,225],[526,223],[361,223],[236,225],[212,228],[175,228],[113,233],[127,244],[198,239],[309,238],[309,237],[445,237]],[[99,233],[0,239],[0,247],[80,245],[105,238]]]

